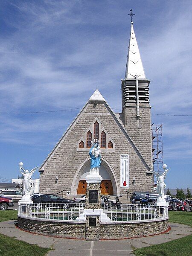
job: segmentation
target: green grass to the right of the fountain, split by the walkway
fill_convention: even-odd
[[[170,212],[169,221],[185,224],[192,227],[192,212]],[[163,244],[134,250],[136,256],[182,256],[192,255],[192,235],[185,236]]]

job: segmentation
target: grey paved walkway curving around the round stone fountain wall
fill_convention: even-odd
[[[41,247],[52,247],[47,256],[128,256],[133,255],[133,247],[140,248],[152,244],[178,239],[192,234],[192,227],[169,223],[171,230],[168,233],[134,239],[85,241],[41,236],[19,230],[14,221],[0,222],[0,233],[15,239],[26,241],[29,244],[38,244]]]

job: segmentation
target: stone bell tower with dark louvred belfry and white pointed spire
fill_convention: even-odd
[[[132,18],[132,16],[131,16]],[[125,79],[122,79],[122,119],[125,129],[152,169],[151,106],[146,79],[131,19]]]

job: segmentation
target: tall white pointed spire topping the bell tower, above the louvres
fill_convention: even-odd
[[[134,33],[133,22],[131,22],[131,34],[129,40],[125,79],[134,78],[135,75],[138,75],[138,78],[145,78],[145,72]]]

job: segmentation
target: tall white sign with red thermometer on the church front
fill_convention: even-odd
[[[120,187],[129,188],[129,154],[121,154]]]

